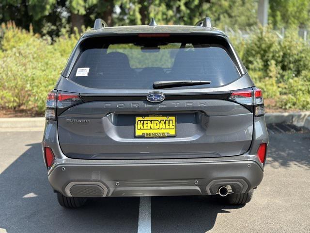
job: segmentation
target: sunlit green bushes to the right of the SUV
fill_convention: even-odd
[[[291,30],[280,39],[271,28],[257,28],[247,39],[231,38],[264,98],[284,109],[310,110],[310,46]]]

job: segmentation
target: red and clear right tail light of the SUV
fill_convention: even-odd
[[[233,91],[229,100],[244,105],[251,112],[254,112],[254,116],[263,116],[265,114],[263,92],[261,89],[253,88]]]

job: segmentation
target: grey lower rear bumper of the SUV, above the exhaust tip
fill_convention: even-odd
[[[231,185],[234,193],[245,193],[262,179],[262,166],[254,160],[60,163],[48,174],[54,190],[73,197],[215,195],[222,185]]]

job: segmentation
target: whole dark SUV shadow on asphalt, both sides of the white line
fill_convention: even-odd
[[[41,144],[35,143],[0,174],[0,228],[7,233],[136,233],[140,199],[90,199],[79,209],[61,207],[48,184]],[[216,197],[153,197],[152,232],[206,232],[218,213]]]

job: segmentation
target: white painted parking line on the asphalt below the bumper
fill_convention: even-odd
[[[151,197],[140,197],[138,233],[151,233]]]

